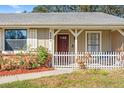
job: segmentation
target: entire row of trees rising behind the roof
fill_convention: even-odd
[[[124,17],[124,6],[120,5],[39,5],[32,12],[104,12]]]

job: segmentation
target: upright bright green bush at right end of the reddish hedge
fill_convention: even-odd
[[[38,60],[39,60],[40,65],[45,64],[47,57],[48,57],[48,52],[46,48],[39,47],[38,48]]]

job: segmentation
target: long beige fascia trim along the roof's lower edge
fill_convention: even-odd
[[[37,24],[37,25],[27,25],[27,24],[23,24],[23,25],[17,25],[17,24],[13,24],[13,25],[0,25],[1,28],[13,28],[13,27],[16,27],[16,28],[55,28],[55,29],[60,29],[60,28],[65,28],[65,29],[75,29],[75,28],[78,28],[78,29],[84,29],[84,28],[87,28],[87,29],[123,29],[124,28],[124,24],[123,25],[118,25],[118,24],[115,24],[115,25],[92,25],[92,24],[85,24],[85,25],[41,25],[41,24]]]

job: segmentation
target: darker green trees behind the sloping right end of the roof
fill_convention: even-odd
[[[124,6],[119,5],[81,5],[82,12],[104,12],[123,17]]]

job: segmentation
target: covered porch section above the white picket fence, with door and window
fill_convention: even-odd
[[[123,29],[50,29],[49,50],[54,52],[110,52],[124,50]]]

